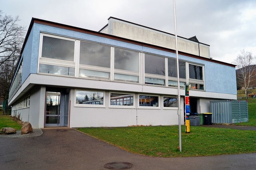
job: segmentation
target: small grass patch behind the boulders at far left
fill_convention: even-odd
[[[20,130],[22,125],[13,121],[10,115],[3,115],[2,112],[0,112],[0,129],[3,127],[12,127],[16,130]]]

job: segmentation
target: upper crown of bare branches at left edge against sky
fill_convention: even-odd
[[[19,17],[2,15],[0,10],[0,66],[11,57],[18,58],[24,42],[24,27],[18,26]]]

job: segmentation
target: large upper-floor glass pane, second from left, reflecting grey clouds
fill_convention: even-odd
[[[110,68],[111,47],[80,42],[80,64]]]

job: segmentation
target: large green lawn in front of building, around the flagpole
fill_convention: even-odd
[[[182,153],[178,126],[78,128],[81,132],[148,156],[186,157],[256,152],[256,131],[182,126]],[[242,139],[242,140],[241,140]]]

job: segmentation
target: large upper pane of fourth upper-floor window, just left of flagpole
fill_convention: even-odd
[[[165,75],[165,58],[145,54],[145,73]]]

